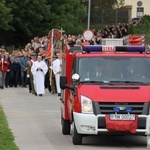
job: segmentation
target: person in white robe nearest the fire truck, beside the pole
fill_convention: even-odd
[[[60,88],[60,75],[62,72],[62,55],[61,53],[57,53],[57,59],[52,62],[52,70],[55,75],[56,80],[56,89],[58,96],[61,95],[61,88]]]

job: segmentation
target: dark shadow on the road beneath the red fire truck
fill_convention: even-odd
[[[146,148],[146,136],[135,135],[98,135],[83,137],[83,145],[102,147]]]

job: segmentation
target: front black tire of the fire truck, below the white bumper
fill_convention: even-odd
[[[82,144],[82,134],[78,133],[75,123],[73,123],[72,142],[74,145]]]

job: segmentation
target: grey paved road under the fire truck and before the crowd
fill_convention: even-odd
[[[73,145],[71,135],[61,133],[59,98],[47,90],[38,97],[27,88],[7,88],[0,90],[0,103],[20,150],[146,149],[143,136],[85,137],[83,145]]]

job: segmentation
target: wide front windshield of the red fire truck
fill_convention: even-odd
[[[144,57],[90,57],[79,59],[82,83],[150,84],[150,59]]]

